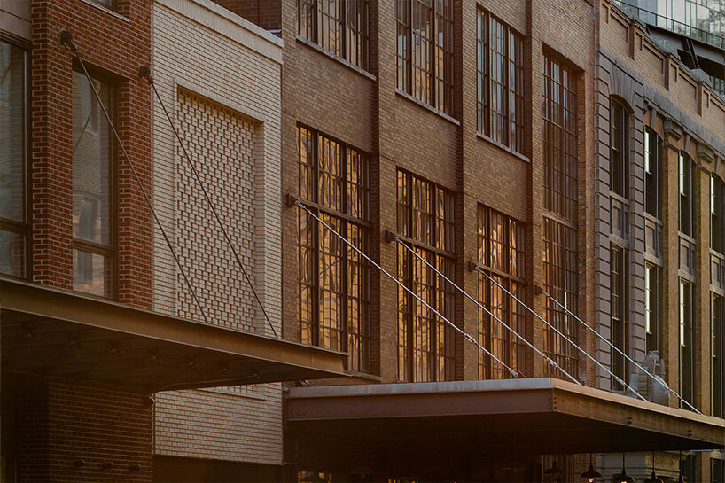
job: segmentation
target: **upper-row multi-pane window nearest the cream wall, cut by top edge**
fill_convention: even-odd
[[[369,0],[297,0],[297,33],[368,69]]]

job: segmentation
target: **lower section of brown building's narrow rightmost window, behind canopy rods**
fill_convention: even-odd
[[[579,309],[576,230],[544,217],[544,290],[576,314]],[[578,340],[576,319],[553,302],[545,307],[546,320],[558,331]],[[548,326],[544,327],[544,353],[574,377],[578,374],[576,349]]]

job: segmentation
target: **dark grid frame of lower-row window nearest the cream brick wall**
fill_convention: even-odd
[[[298,178],[298,194],[300,195],[300,202],[305,205],[310,211],[312,211],[314,214],[319,216],[320,218],[323,218],[325,216],[330,217],[331,219],[338,220],[341,222],[341,232],[340,235],[345,237],[349,241],[349,225],[355,225],[358,230],[363,229],[366,230],[366,243],[367,245],[370,245],[370,238],[372,234],[373,224],[370,222],[370,155],[351,146],[350,144],[343,143],[339,139],[336,139],[332,136],[327,136],[323,134],[322,132],[318,131],[317,129],[309,128],[306,125],[298,123],[296,126],[297,129],[297,149],[298,149],[298,176],[300,176],[300,170],[302,169],[302,163],[301,163],[301,153],[300,153],[300,136],[301,131],[305,130],[309,133],[309,135],[312,137],[312,152],[314,156],[314,163],[309,165],[310,167],[310,175],[312,175],[312,183],[313,186],[308,187],[308,191],[312,191],[314,194],[315,199],[308,199],[301,195],[300,193],[300,187],[301,187],[301,177]],[[339,144],[341,155],[340,155],[340,183],[341,183],[341,190],[340,190],[340,203],[341,203],[341,209],[342,211],[337,211],[334,208],[331,208],[330,206],[324,206],[323,203],[320,202],[320,160],[319,160],[319,143],[320,139],[324,138],[326,140],[329,140],[331,143]],[[358,155],[365,158],[365,161],[367,163],[367,203],[365,206],[365,209],[367,211],[367,217],[368,219],[365,220],[363,218],[358,218],[353,214],[350,214],[350,207],[347,206],[348,200],[349,200],[349,193],[348,193],[348,184],[351,183],[350,179],[347,177],[347,164],[348,164],[348,156],[350,151],[355,151]],[[300,213],[299,216],[308,216],[308,214],[302,214]],[[314,220],[314,219],[313,219]],[[298,218],[298,223],[299,223]],[[308,289],[312,291],[312,294],[309,295],[310,300],[312,301],[312,308],[311,308],[311,314],[313,315],[313,320],[311,323],[305,323],[303,322],[303,317],[301,314],[301,288],[300,288],[300,277],[301,277],[301,265],[300,265],[300,257],[301,257],[301,251],[303,250],[303,246],[301,245],[300,240],[300,230],[298,228],[298,234],[297,234],[297,257],[298,257],[298,328],[300,329],[299,338],[301,343],[308,343],[317,347],[324,347],[320,344],[320,323],[321,323],[321,308],[320,308],[320,293],[321,293],[321,286],[320,283],[320,253],[323,251],[323,247],[321,245],[321,241],[319,239],[319,233],[320,228],[317,226],[316,222],[313,222],[315,225],[315,228],[312,230],[312,246],[306,247],[310,251],[310,254],[312,256],[312,264],[315,267],[314,269],[314,281],[313,284],[308,285]],[[324,227],[323,227],[324,229]],[[327,230],[327,229],[324,229]],[[349,248],[349,246],[346,243],[340,242],[340,255],[339,260],[345,263],[345,269],[341,270],[341,281],[340,286],[342,287],[342,293],[340,295],[340,298],[342,301],[341,304],[341,310],[340,310],[340,316],[339,316],[339,324],[340,324],[340,339],[341,339],[341,346],[339,347],[339,350],[342,352],[350,352],[350,326],[349,326],[349,317],[347,316],[348,313],[348,303],[352,298],[355,298],[356,300],[361,301],[361,305],[367,306],[367,320],[363,321],[365,333],[361,332],[358,333],[357,336],[361,339],[360,342],[360,350],[357,352],[359,360],[355,363],[350,360],[349,356],[346,360],[347,369],[348,370],[355,370],[357,372],[363,372],[363,373],[370,373],[370,319],[371,319],[371,296],[370,296],[370,264],[368,261],[361,260],[360,261],[360,268],[365,267],[366,269],[366,287],[363,287],[362,292],[366,293],[367,300],[364,300],[363,297],[352,297],[349,292],[349,285],[348,285],[348,261],[350,254],[354,254],[354,251]],[[366,250],[365,247],[361,248],[363,252]],[[303,324],[310,325],[311,329],[311,340],[309,342],[305,341],[303,338],[303,331],[307,330],[307,328],[303,327]],[[351,369],[355,368],[355,369]]]

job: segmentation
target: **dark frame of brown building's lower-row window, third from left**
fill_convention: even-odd
[[[504,239],[503,253],[501,256],[506,265],[503,270],[496,269],[491,260],[491,254],[493,253],[492,245],[494,243],[491,238],[492,214],[500,216],[503,220],[502,227]],[[498,278],[497,282],[502,284],[509,292],[517,294],[517,298],[519,300],[525,299],[526,224],[482,204],[479,204],[477,208],[477,222],[479,252],[474,264],[479,267],[479,269],[486,271],[489,277]],[[486,226],[482,226],[481,222],[485,223]],[[511,230],[520,230],[517,235],[517,237],[520,238],[518,240],[520,247],[513,247],[511,245]],[[512,251],[516,252],[516,273],[513,273],[513,269],[511,267]],[[520,270],[518,266],[519,261],[522,263]],[[518,332],[519,335],[526,337],[526,313],[524,311],[524,307],[503,291],[501,293],[503,306],[501,308],[495,307],[492,303],[492,300],[494,300],[493,295],[494,292],[500,291],[501,289],[488,280],[488,278],[483,274],[479,274],[478,277],[479,303],[493,314],[495,314],[496,311],[501,312],[502,316],[498,316],[498,318],[501,319],[503,323],[506,323],[509,327],[511,327],[511,329]],[[520,317],[520,319],[518,317]],[[518,320],[514,320],[515,318]],[[523,327],[519,326],[519,323],[523,323]],[[498,339],[500,341],[500,346],[503,347],[503,351],[501,352],[498,352],[494,347],[494,327],[497,331],[500,331],[500,333],[503,334],[503,337]],[[518,339],[517,336],[512,334],[511,331],[504,330],[503,327],[500,327],[500,323],[482,309],[479,309],[479,344],[486,347],[492,354],[495,354],[496,357],[508,364],[509,367],[514,370],[522,371],[522,366],[526,366],[526,345]],[[480,351],[478,353],[478,369],[479,379],[511,378],[511,374],[509,374],[507,370],[503,370],[497,364],[492,364],[489,357],[486,354],[482,354]]]

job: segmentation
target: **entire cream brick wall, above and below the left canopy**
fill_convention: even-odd
[[[209,0],[152,4],[152,75],[272,323],[281,320],[281,41]],[[209,323],[270,335],[158,101],[153,202]],[[161,237],[153,308],[202,321]],[[281,464],[279,385],[157,394],[155,451]]]

